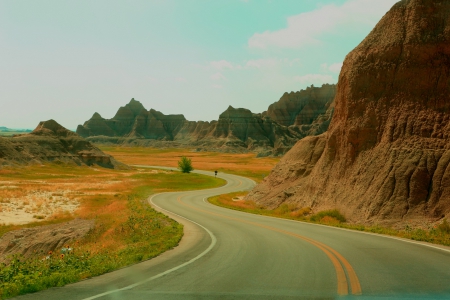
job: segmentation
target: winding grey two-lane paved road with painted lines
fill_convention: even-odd
[[[175,249],[18,299],[450,299],[450,248],[217,207],[206,199],[254,186],[219,177],[149,199],[184,224]]]

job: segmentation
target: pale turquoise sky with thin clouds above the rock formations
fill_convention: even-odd
[[[131,98],[211,121],[336,83],[397,0],[2,0],[0,126],[69,129]]]

